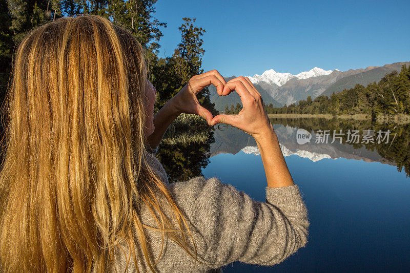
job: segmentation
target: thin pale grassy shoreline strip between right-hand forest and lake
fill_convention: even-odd
[[[354,119],[354,120],[370,120],[371,115],[367,114],[355,114],[355,115],[331,115],[331,114],[268,114],[269,118],[341,118],[341,119]],[[410,115],[397,114],[397,115],[378,115],[376,117],[377,122],[386,123],[394,122],[399,124],[410,123]]]

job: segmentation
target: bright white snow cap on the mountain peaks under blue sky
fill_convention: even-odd
[[[277,86],[282,86],[292,78],[308,79],[311,77],[317,77],[321,75],[329,75],[332,72],[333,70],[324,70],[318,67],[314,67],[309,71],[304,71],[299,74],[292,75],[291,73],[279,73],[273,69],[270,69],[270,70],[263,72],[262,75],[256,74],[253,77],[249,76],[248,78],[252,81],[254,85],[263,81],[263,82],[270,83],[271,85],[275,84]]]

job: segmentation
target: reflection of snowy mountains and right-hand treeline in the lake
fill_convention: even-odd
[[[281,146],[283,155],[297,155],[318,161],[323,158],[346,158],[363,160],[365,162],[381,162],[397,166],[397,170],[410,174],[410,126],[409,124],[380,124],[372,123],[370,120],[348,120],[348,119],[325,119],[325,118],[286,118],[271,119],[276,135]],[[298,144],[296,133],[299,128],[305,129],[315,136],[318,130],[329,130],[330,137],[327,143],[315,143],[312,138],[310,142]],[[333,130],[344,134],[342,143],[337,139],[332,142]],[[376,141],[374,143],[349,143],[347,141],[348,130],[358,130],[361,134],[365,130],[387,132],[389,139],[387,143]],[[211,156],[220,153],[236,154],[244,153],[259,154],[253,137],[241,130],[227,124],[215,125],[215,142],[211,145]],[[356,141],[353,141],[356,142]],[[362,139],[359,140],[362,142]]]

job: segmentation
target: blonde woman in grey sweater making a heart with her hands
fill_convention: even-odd
[[[194,76],[154,117],[140,44],[92,15],[31,31],[12,76],[0,270],[206,272],[234,261],[277,264],[305,245],[305,205],[248,78]],[[237,116],[212,117],[199,105],[196,93],[211,83],[219,95],[240,95]],[[266,202],[216,178],[168,184],[147,149],[180,113],[255,137]]]

